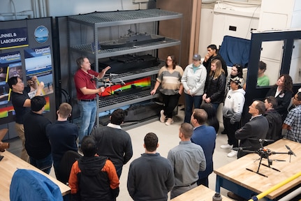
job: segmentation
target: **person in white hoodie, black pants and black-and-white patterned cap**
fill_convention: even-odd
[[[244,94],[242,89],[242,78],[230,78],[230,90],[223,105],[223,124],[228,131],[228,144],[221,145],[221,149],[232,149],[238,147],[238,140],[235,138],[235,131],[240,128],[240,119],[242,117],[242,110],[244,107]],[[228,157],[237,156],[237,151],[232,150],[227,155]]]

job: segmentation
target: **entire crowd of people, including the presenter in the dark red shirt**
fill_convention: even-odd
[[[31,79],[31,85],[37,90],[33,98],[29,98],[27,94],[31,89],[24,87],[19,77],[11,77],[8,81],[13,91],[11,98],[17,116],[16,129],[23,142],[22,159],[47,174],[53,163],[59,178],[60,161],[66,151],[79,151],[83,156],[73,164],[68,182],[71,198],[116,200],[122,167],[133,156],[131,137],[121,127],[125,113],[117,109],[110,115],[107,126],[94,128],[96,94],[104,89],[97,88],[93,78],[102,78],[110,66],[96,73],[91,70],[87,57],[78,58],[77,64],[79,69],[74,81],[81,114],[79,128],[68,122],[72,111],[68,103],[59,106],[57,121],[52,123],[43,117],[46,102],[39,91],[44,85],[43,82],[37,84],[36,77]],[[150,93],[154,95],[159,91],[162,95],[163,110],[159,120],[170,126],[174,122],[173,110],[184,92],[184,123],[180,125],[178,135],[180,142],[170,149],[167,158],[163,158],[156,152],[159,147],[157,135],[145,135],[145,154],[131,162],[129,168],[127,188],[133,200],[167,200],[168,192],[171,192],[171,198],[175,198],[200,184],[208,186],[219,131],[216,111],[221,103],[223,133],[228,137],[228,143],[221,145],[221,149],[249,147],[255,151],[261,146],[254,140],[258,138],[276,141],[286,137],[301,142],[301,91],[293,96],[290,75],[280,75],[264,100],[256,100],[249,105],[251,119],[241,125],[246,83],[242,77],[242,66],[233,65],[227,77],[225,65],[215,45],[207,47],[203,62],[200,54],[194,54],[192,63],[184,70],[174,55],[166,57]],[[291,102],[293,107],[288,111]],[[281,135],[281,125],[287,130],[284,136]],[[238,149],[230,151],[227,156],[240,158],[245,154]]]

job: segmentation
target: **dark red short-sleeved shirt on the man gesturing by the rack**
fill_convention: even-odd
[[[85,73],[84,70],[79,69],[74,75],[74,82],[78,100],[91,100],[96,98],[96,94],[84,95],[82,94],[82,91],[80,91],[80,88],[83,87],[87,87],[87,89],[96,89],[96,82],[92,79],[93,77],[91,75],[97,77],[99,73],[94,70],[88,70],[88,73]]]

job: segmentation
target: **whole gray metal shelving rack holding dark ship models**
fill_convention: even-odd
[[[89,13],[85,15],[74,15],[68,17],[68,27],[69,27],[69,51],[70,53],[78,53],[80,55],[86,55],[90,59],[95,61],[95,70],[98,71],[98,59],[104,59],[108,57],[116,57],[125,54],[152,54],[152,57],[156,57],[157,50],[165,47],[172,47],[179,45],[179,49],[181,47],[181,39],[177,38],[168,38],[166,36],[156,35],[159,33],[159,22],[162,20],[172,20],[172,19],[180,19],[182,18],[182,13],[170,12],[167,10],[160,9],[147,9],[147,10],[127,10],[127,11],[115,11],[115,12],[95,12]],[[181,24],[182,19],[181,20]],[[137,43],[129,42],[129,47],[121,47],[122,45],[115,45],[118,48],[105,49],[105,50],[93,50],[93,44],[103,44],[103,49],[108,48],[106,44],[119,44],[119,33],[127,33],[131,27],[127,25],[138,24],[138,33],[140,31],[142,33],[148,33],[152,36],[153,39],[160,39],[161,41],[155,40],[146,40],[145,43],[140,44],[140,40],[137,40]],[[126,25],[126,26],[123,26]],[[110,28],[109,28],[110,27]],[[104,29],[103,29],[104,28]],[[71,31],[74,29],[74,31]],[[112,31],[112,33],[109,31]],[[116,30],[116,32],[114,32]],[[120,31],[120,32],[119,32]],[[93,36],[92,36],[93,34]],[[71,36],[72,35],[72,36]],[[93,38],[91,38],[91,36]],[[161,37],[164,37],[161,39]],[[93,40],[92,40],[93,39]],[[115,40],[112,40],[115,39]],[[108,40],[108,41],[105,41]],[[131,40],[130,40],[131,41]],[[135,40],[133,40],[135,42]],[[80,44],[81,43],[81,44]],[[131,45],[130,45],[131,44]],[[135,45],[134,45],[135,44]],[[101,48],[98,45],[95,45],[96,49]],[[111,46],[110,46],[111,48]],[[149,52],[152,53],[149,53]],[[157,63],[156,63],[157,64]],[[156,65],[152,63],[152,65]],[[109,78],[114,83],[118,83],[121,81],[129,81],[135,80],[140,77],[149,77],[151,78],[152,87],[149,88],[136,88],[129,91],[124,90],[123,92],[117,92],[110,96],[98,97],[97,100],[97,113],[114,110],[119,107],[123,107],[126,105],[133,105],[135,103],[140,104],[143,101],[151,101],[154,98],[158,98],[159,94],[151,95],[151,88],[154,88],[155,76],[159,73],[159,70],[162,66],[165,65],[165,61],[160,61],[158,66],[152,66],[149,68],[145,68],[145,66],[141,65],[140,68],[135,70],[131,70],[131,68],[124,68],[122,72],[126,72],[126,70],[131,70],[126,73],[112,73],[112,75],[106,75],[104,78]],[[135,66],[131,66],[135,67]],[[112,70],[114,71],[114,70]],[[116,70],[117,71],[117,70]],[[110,72],[110,71],[109,71]],[[102,82],[98,82],[98,87],[103,84]],[[149,113],[148,113],[149,114]],[[146,122],[154,121],[154,119],[158,119],[158,116],[150,117],[149,119],[144,119],[142,121],[130,122],[126,127],[137,126],[138,124],[146,124]],[[96,119],[96,124],[99,124],[99,118]]]

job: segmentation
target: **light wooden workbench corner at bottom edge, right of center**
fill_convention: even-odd
[[[208,201],[212,200],[214,194],[215,192],[210,188],[200,185],[196,188],[191,189],[190,191],[187,191],[186,193],[183,193],[182,195],[173,198],[170,201]],[[230,198],[227,198],[223,195],[221,195],[221,198],[223,198],[223,201],[231,200]]]

